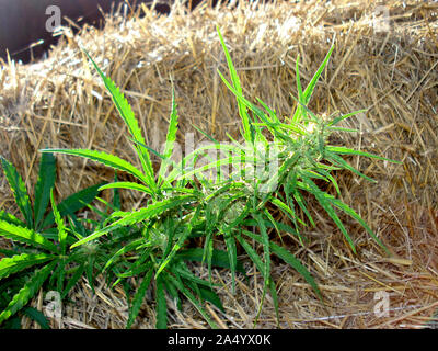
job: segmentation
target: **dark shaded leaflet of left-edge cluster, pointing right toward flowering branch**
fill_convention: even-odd
[[[71,216],[74,218],[74,212],[83,208],[90,204],[99,194],[99,189],[104,183],[99,183],[89,188],[85,188],[77,193],[66,197],[58,204],[58,211],[61,217]],[[43,220],[42,228],[46,228],[55,223],[54,212],[50,212]]]

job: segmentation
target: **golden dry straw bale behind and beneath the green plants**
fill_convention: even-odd
[[[237,104],[221,83],[217,68],[227,71],[216,34],[218,24],[227,41],[246,97],[261,98],[283,115],[293,109],[297,55],[301,79],[311,75],[335,41],[331,63],[311,101],[316,113],[332,114],[369,109],[345,126],[360,134],[333,140],[391,159],[402,166],[350,158],[360,171],[374,178],[366,183],[351,174],[337,174],[343,201],[353,206],[397,259],[383,259],[362,228],[343,218],[358,242],[354,256],[326,217],[306,248],[290,250],[316,276],[324,294],[322,306],[310,286],[290,269],[277,263],[283,328],[418,328],[438,308],[438,4],[423,1],[274,1],[249,2],[230,10],[199,7],[186,13],[176,3],[165,16],[142,8],[129,20],[108,18],[104,31],[84,29],[69,35],[49,57],[33,65],[4,63],[0,71],[0,154],[18,167],[27,184],[36,179],[38,149],[92,148],[130,161],[126,133],[110,97],[81,53],[84,47],[129,99],[149,145],[164,140],[171,106],[171,80],[181,115],[180,141],[192,124],[224,140],[238,136]],[[141,14],[141,16],[139,15]],[[195,136],[201,140],[201,135]],[[108,180],[106,168],[58,156],[59,196]],[[74,181],[72,181],[74,180]],[[126,208],[141,199],[125,194]],[[14,211],[7,181],[0,178],[0,208]],[[311,201],[311,200],[309,200]],[[307,256],[304,256],[307,250]],[[226,314],[209,307],[223,328],[251,328],[263,283],[249,267],[250,281],[217,271],[223,283],[219,294]],[[207,274],[199,269],[199,274]],[[255,293],[254,293],[255,292]],[[388,297],[390,310],[377,314]],[[103,284],[96,296],[87,281],[71,294],[62,328],[123,328],[127,319],[124,292]],[[378,298],[378,299],[376,299]],[[170,302],[171,303],[171,302]],[[150,302],[153,304],[153,302]],[[43,296],[34,302],[44,306]],[[173,328],[205,328],[188,305],[171,316]],[[137,327],[154,326],[153,308],[145,305]],[[276,326],[267,299],[260,328]],[[33,327],[27,324],[27,327]]]

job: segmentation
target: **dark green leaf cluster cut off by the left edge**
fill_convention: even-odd
[[[22,218],[19,218],[3,210],[0,211],[0,237],[12,241],[10,249],[0,250],[0,254],[3,256],[0,260],[2,324],[25,307],[46,282],[50,282],[53,288],[65,297],[79,280],[82,268],[87,262],[90,263],[91,251],[69,249],[69,246],[79,240],[80,235],[72,233],[65,225],[62,217],[74,217],[74,212],[94,200],[97,188],[102,184],[72,194],[57,205],[53,194],[56,159],[51,154],[45,154],[41,158],[35,199],[32,203],[15,167],[1,156],[0,163],[22,215]],[[91,275],[92,264],[89,265]],[[42,316],[31,307],[25,307],[23,313],[37,318],[46,326]]]

